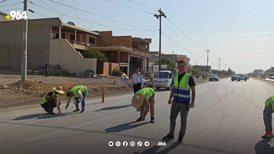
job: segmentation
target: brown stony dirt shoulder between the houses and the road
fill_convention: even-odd
[[[202,78],[194,78],[195,82],[205,81]],[[101,97],[102,87],[107,89],[106,95],[119,95],[124,92],[133,92],[130,83],[125,83],[121,79],[110,78],[80,78],[64,76],[39,76],[27,75],[27,80],[22,82],[19,72],[0,72],[0,110],[23,107],[26,105],[40,104],[42,97],[52,87],[61,86],[64,92],[76,85],[85,85],[89,92],[87,98]],[[111,82],[121,82],[123,84],[111,84]],[[4,87],[4,86],[7,86]],[[153,82],[144,83],[144,87],[153,87]],[[4,89],[5,88],[5,89]],[[58,97],[59,101],[66,101],[65,94]]]

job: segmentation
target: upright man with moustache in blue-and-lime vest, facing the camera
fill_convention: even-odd
[[[194,107],[195,101],[195,82],[193,76],[186,73],[186,62],[183,60],[178,61],[177,68],[179,73],[173,76],[172,80],[172,90],[170,92],[170,97],[168,104],[171,104],[171,99],[173,97],[173,103],[170,109],[170,129],[169,134],[163,137],[163,140],[171,140],[174,139],[174,131],[176,125],[176,118],[178,113],[181,115],[181,129],[179,131],[179,137],[177,140],[178,144],[183,142],[183,138],[185,135],[185,130],[187,127],[187,115],[189,112],[189,108]],[[192,91],[192,99],[190,97],[190,90]],[[191,100],[191,103],[190,103]],[[190,104],[189,104],[190,103]]]

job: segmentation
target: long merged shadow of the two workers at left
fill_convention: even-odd
[[[35,119],[49,119],[49,118],[56,118],[56,117],[72,115],[72,114],[75,114],[75,112],[56,113],[55,115],[50,115],[48,113],[38,113],[38,114],[33,114],[33,115],[20,116],[18,118],[12,119],[12,120],[27,120],[27,119],[34,119],[34,118]]]

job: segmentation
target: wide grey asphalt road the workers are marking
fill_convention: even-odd
[[[254,79],[198,83],[184,142],[176,143],[178,116],[175,139],[165,146],[156,144],[169,133],[166,89],[156,90],[154,124],[150,113],[141,125],[135,121],[140,115],[131,105],[133,92],[126,91],[106,96],[105,103],[101,98],[87,100],[85,113],[73,113],[72,103],[67,112],[61,104],[63,113],[56,115],[47,115],[40,106],[0,111],[1,153],[273,153],[270,139],[261,138],[264,102],[273,88],[273,83]],[[135,146],[116,146],[117,141],[134,141]],[[149,146],[144,146],[146,141]]]

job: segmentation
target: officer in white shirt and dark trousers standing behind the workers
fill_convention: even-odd
[[[136,73],[133,74],[132,81],[131,81],[131,88],[133,86],[134,94],[139,90],[143,89],[144,79],[142,73],[139,72],[140,68],[136,67]]]

